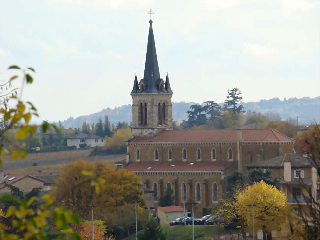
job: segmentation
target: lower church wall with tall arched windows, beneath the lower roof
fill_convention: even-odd
[[[222,186],[221,186],[221,174],[220,172],[212,173],[136,173],[144,187],[153,189],[154,183],[158,186],[158,200],[160,196],[163,196],[167,189],[167,184],[171,184],[174,196],[173,206],[183,207],[182,202],[182,183],[186,184],[187,197],[186,202],[196,202],[196,184],[201,185],[201,201],[198,202],[194,209],[195,217],[202,217],[203,208],[209,208],[216,206],[222,197]],[[218,187],[218,201],[213,201],[213,184],[216,183]],[[154,201],[157,206],[158,201]],[[191,212],[191,206],[185,204],[188,211]]]

